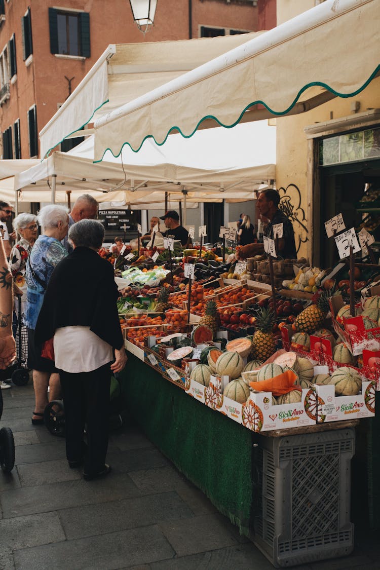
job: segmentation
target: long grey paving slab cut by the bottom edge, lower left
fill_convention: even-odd
[[[171,559],[175,552],[156,525],[27,548],[14,553],[17,570],[113,570]]]

